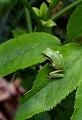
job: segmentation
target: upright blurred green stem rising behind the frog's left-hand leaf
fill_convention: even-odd
[[[27,31],[29,33],[32,33],[32,22],[29,10],[25,7],[25,17],[26,17],[26,25],[27,25]]]

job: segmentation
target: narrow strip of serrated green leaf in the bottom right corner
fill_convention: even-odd
[[[71,120],[82,120],[82,81],[77,89],[75,110]]]

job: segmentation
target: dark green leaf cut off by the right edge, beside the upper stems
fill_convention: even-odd
[[[75,9],[67,25],[67,35],[70,40],[80,34],[82,34],[82,5]]]

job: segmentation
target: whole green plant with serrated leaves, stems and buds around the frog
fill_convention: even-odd
[[[64,2],[64,0],[62,1]],[[20,98],[21,105],[14,118],[15,120],[30,119],[35,114],[53,109],[57,104],[61,107],[61,101],[74,90],[76,90],[74,113],[72,115],[73,111],[70,113],[70,110],[67,109],[66,112],[69,112],[70,115],[67,117],[66,114],[62,114],[61,120],[69,120],[71,116],[71,120],[82,119],[82,0],[74,0],[52,16],[51,12],[59,2],[60,0],[47,0],[47,4],[43,2],[39,9],[31,7],[28,0],[22,0],[27,25],[26,31],[23,29],[13,30],[14,38],[0,45],[0,76],[4,77],[17,72],[18,76],[21,77],[20,70],[24,71],[26,68],[31,75],[30,77],[26,76],[25,79],[31,79],[33,73],[33,80],[35,80],[33,85],[31,83],[31,90]],[[57,25],[57,19],[72,8],[75,9],[67,23],[69,42],[65,40],[61,44],[59,38],[51,35],[52,28]],[[31,18],[35,21],[34,26]],[[42,55],[42,52],[47,48],[59,51],[62,54],[65,64],[63,78],[49,79],[47,77],[53,71],[53,67],[45,62],[46,58]],[[35,72],[36,67],[40,65],[42,68]],[[21,77],[23,78],[22,82],[27,88],[30,85],[28,85],[28,80],[27,82],[24,81],[24,77],[24,75]],[[75,96],[74,93],[73,95]],[[67,98],[65,100],[67,102]],[[69,101],[70,97],[68,97],[68,104],[70,105]],[[43,117],[46,116],[47,119],[51,119],[47,112],[44,114],[42,114]],[[59,116],[55,118],[60,119]],[[41,120],[41,116],[35,115],[33,119]]]

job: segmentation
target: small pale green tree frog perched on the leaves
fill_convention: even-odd
[[[55,70],[49,73],[49,78],[64,77],[64,59],[59,51],[53,51],[47,48],[42,54],[50,61],[50,66]]]

